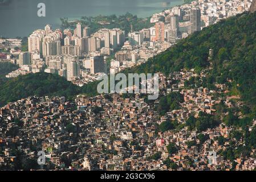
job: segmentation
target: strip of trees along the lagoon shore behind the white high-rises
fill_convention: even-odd
[[[68,22],[68,18],[60,18],[63,28],[75,28],[77,22]],[[124,15],[98,15],[92,16],[82,16],[79,20],[83,26],[90,27],[90,32],[94,33],[100,28],[121,28],[125,31],[125,34],[131,32],[131,26],[133,31],[139,31],[143,28],[149,28],[153,26],[150,23],[150,18],[138,18],[137,15],[131,13],[126,13]]]

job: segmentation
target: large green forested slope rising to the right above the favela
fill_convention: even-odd
[[[255,61],[255,20],[255,13],[221,20],[181,40],[140,67],[129,69],[129,72],[168,74],[181,68],[201,69],[209,64],[206,60],[210,48],[214,51],[213,63],[217,71],[223,68],[225,60],[229,63],[245,63],[244,59]]]

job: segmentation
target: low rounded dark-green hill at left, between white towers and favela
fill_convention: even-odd
[[[0,105],[29,96],[65,96],[71,98],[80,93],[79,86],[64,77],[49,73],[19,76],[0,85]]]

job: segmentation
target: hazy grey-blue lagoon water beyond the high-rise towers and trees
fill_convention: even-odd
[[[0,5],[0,37],[28,36],[46,24],[60,27],[60,18],[80,19],[81,16],[122,15],[127,12],[146,18],[182,0],[7,0]],[[45,3],[46,17],[37,16],[38,3]],[[167,2],[167,3],[166,3]]]

